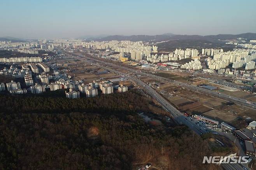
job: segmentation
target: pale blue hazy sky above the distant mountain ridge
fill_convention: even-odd
[[[0,37],[256,33],[256,0],[0,0]]]

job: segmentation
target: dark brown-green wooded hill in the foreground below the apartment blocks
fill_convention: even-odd
[[[212,151],[200,136],[137,115],[150,104],[133,90],[74,100],[0,95],[0,169],[214,169],[202,164]]]

